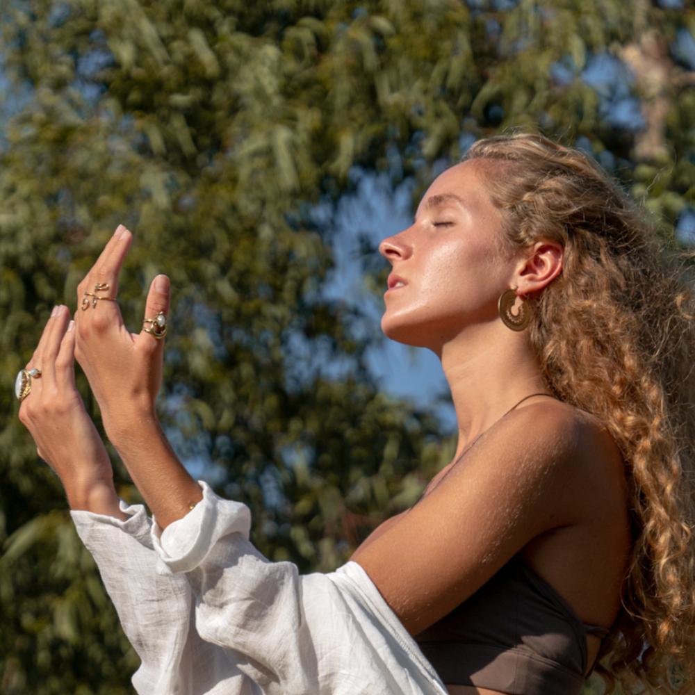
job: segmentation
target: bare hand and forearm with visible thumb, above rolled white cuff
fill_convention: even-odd
[[[154,407],[161,384],[169,280],[164,275],[154,279],[140,333],[126,329],[115,301],[132,240],[125,227],[118,227],[78,286],[75,354],[99,402],[108,438],[158,524],[166,528],[202,495],[174,455]]]

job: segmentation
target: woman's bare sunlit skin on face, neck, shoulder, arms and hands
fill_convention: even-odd
[[[476,163],[462,163],[432,183],[414,224],[379,247],[393,273],[407,283],[386,293],[382,329],[394,340],[439,356],[459,433],[452,462],[430,482],[424,498],[380,525],[352,557],[411,635],[466,600],[516,553],[582,621],[610,626],[619,610],[630,537],[616,445],[596,418],[545,396],[525,400],[500,420],[525,395],[547,389],[528,336],[502,324],[498,298],[512,286],[518,295],[542,292],[562,272],[562,247],[549,240],[502,257],[501,222],[486,193],[484,172]],[[119,227],[79,286],[78,304],[96,282],[108,282],[108,295],[115,296],[131,241],[131,233]],[[169,284],[160,277],[163,285],[150,288],[145,317],[168,309]],[[20,418],[63,480],[73,508],[120,514],[113,483],[108,486],[108,459],[76,404],[70,380],[74,354],[99,402],[109,439],[165,528],[201,493],[156,418],[164,341],[131,334],[116,302],[78,310],[75,322],[76,329],[68,332],[67,309],[49,320],[28,366],[41,366],[45,375],[55,363],[60,381],[42,391],[49,379],[35,379],[42,384],[22,403]],[[66,426],[89,433],[80,440],[89,445],[78,461],[76,445],[65,442],[65,432],[72,430],[46,430],[66,401],[72,404],[65,407]],[[466,452],[465,465],[454,466],[482,432],[485,436]],[[65,446],[58,442],[61,437]],[[596,637],[587,638],[589,663],[598,645]],[[457,685],[449,690],[452,695],[494,693]]]

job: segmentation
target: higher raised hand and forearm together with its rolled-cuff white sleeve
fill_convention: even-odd
[[[302,577],[289,562],[268,562],[248,540],[248,509],[201,489],[181,466],[154,409],[160,336],[130,334],[113,301],[131,240],[118,230],[79,286],[79,300],[87,301],[76,314],[76,357],[109,439],[156,516],[157,572],[193,589],[195,634],[222,648],[244,674],[235,684],[265,695],[443,695],[436,673],[359,567]],[[168,282],[159,279],[163,285],[155,281],[147,297],[148,319],[168,310]],[[110,593],[122,589],[116,581]]]

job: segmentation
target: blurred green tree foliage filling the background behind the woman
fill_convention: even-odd
[[[379,392],[377,325],[322,295],[332,231],[314,207],[349,193],[355,167],[414,177],[419,195],[471,138],[523,126],[590,147],[673,236],[695,180],[695,66],[669,49],[695,12],[674,4],[3,3],[5,112],[26,96],[0,140],[3,693],[131,692],[137,659],[10,390],[116,225],[136,235],[131,327],[149,280],[172,279],[161,412],[181,456],[252,507],[268,557],[332,569],[453,442]],[[582,79],[596,56],[631,67],[641,130],[616,124],[614,86]]]

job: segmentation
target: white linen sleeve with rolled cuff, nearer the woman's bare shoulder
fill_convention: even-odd
[[[446,689],[361,567],[300,575],[250,543],[250,512],[205,482],[194,512],[152,547],[163,578],[185,579],[195,628],[244,658],[237,666],[268,695],[443,695]]]

